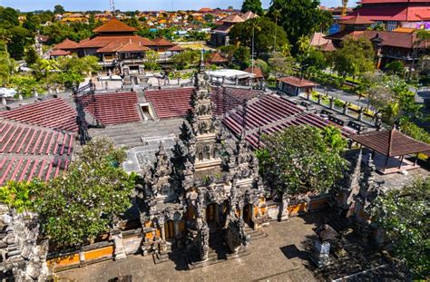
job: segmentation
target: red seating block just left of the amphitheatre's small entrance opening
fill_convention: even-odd
[[[84,98],[83,101],[89,102],[85,111],[104,125],[141,121],[135,92],[94,94],[94,99]]]

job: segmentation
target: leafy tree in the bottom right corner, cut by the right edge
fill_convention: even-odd
[[[430,269],[430,178],[415,180],[402,190],[390,190],[376,198],[372,220],[385,231],[393,253],[416,278]]]

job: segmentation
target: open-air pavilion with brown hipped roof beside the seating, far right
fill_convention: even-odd
[[[430,150],[429,144],[416,141],[396,129],[369,131],[350,138],[373,151],[376,170],[384,174],[417,168],[418,154]],[[405,156],[410,155],[415,155],[415,161],[405,159]]]

